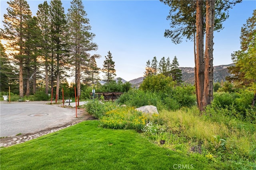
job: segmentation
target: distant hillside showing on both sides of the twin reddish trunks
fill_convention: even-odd
[[[228,67],[234,66],[234,64],[214,66],[213,69],[213,80],[214,82],[220,82],[221,80],[226,81],[226,76],[231,74],[228,72]],[[180,67],[182,70],[182,81],[186,83],[194,84],[194,68],[192,67]]]

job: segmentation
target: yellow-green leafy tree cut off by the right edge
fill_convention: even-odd
[[[227,80],[234,82],[238,87],[249,86],[254,90],[252,100],[252,106],[254,106],[256,102],[256,10],[242,26],[240,40],[240,50],[232,54],[232,61],[235,64],[229,68],[232,76]]]

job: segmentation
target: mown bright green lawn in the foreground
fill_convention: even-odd
[[[193,156],[196,158],[196,156]],[[84,121],[56,133],[0,150],[1,170],[212,169],[187,155],[150,143],[134,130]]]

